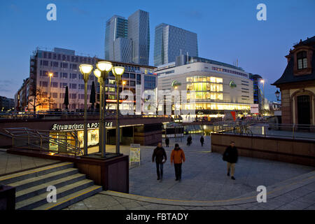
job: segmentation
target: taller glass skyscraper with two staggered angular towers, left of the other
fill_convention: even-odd
[[[148,65],[150,50],[149,15],[137,10],[128,20],[119,16],[106,22],[105,59]]]

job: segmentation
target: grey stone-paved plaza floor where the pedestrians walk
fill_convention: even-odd
[[[314,167],[240,157],[232,181],[226,176],[222,155],[211,153],[210,139],[204,147],[200,136],[193,145],[179,142],[186,153],[182,181],[174,181],[174,167],[165,163],[162,181],[156,180],[153,148],[141,147],[141,167],[130,167],[130,195],[103,191],[67,209],[314,209]],[[170,146],[174,146],[171,140]],[[108,146],[107,151],[114,151]],[[129,154],[129,147],[121,151]],[[167,156],[172,148],[166,148]],[[293,184],[294,183],[294,184]],[[256,188],[266,186],[267,203],[256,201]]]

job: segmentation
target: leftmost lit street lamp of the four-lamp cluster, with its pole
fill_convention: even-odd
[[[87,81],[89,80],[90,73],[93,66],[91,64],[80,64],[80,72],[84,80],[84,155],[87,155]]]

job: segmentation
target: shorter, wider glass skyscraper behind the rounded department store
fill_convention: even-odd
[[[181,54],[198,56],[197,34],[165,23],[156,26],[154,65],[175,62]]]

